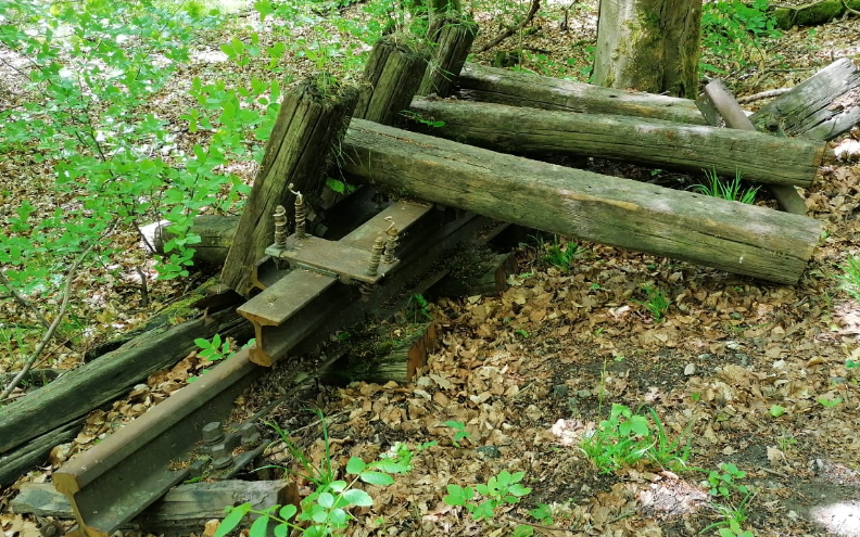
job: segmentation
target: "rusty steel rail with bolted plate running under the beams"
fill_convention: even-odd
[[[352,252],[354,263],[365,257],[370,252],[367,245],[372,250],[380,233],[392,229],[392,220],[400,227],[400,244],[396,252],[385,254],[383,250],[377,274],[356,274],[357,265],[340,271],[330,266],[340,247]],[[308,242],[296,244],[295,238],[288,238],[293,247],[281,250],[292,253],[275,251],[276,256],[270,255],[267,261],[274,265],[267,273],[280,280],[269,281],[260,295],[240,308],[257,330],[256,347],[237,353],[54,473],[54,485],[69,499],[78,522],[71,535],[111,535],[186,480],[190,470],[178,468],[177,461],[187,459],[206,438],[212,440],[212,422],[224,420],[232,401],[266,370],[252,359],[274,363],[288,351],[315,348],[336,330],[362,322],[372,311],[391,312],[394,304],[410,296],[408,285],[488,222],[471,214],[399,202],[340,241],[325,244],[311,239],[333,255],[328,259],[303,256],[301,246]],[[284,268],[286,264],[291,268]],[[248,426],[245,423],[240,429]],[[263,443],[260,438],[257,442],[243,458],[236,459],[231,458],[236,443],[211,448],[207,475],[219,466],[238,470],[250,463]]]

